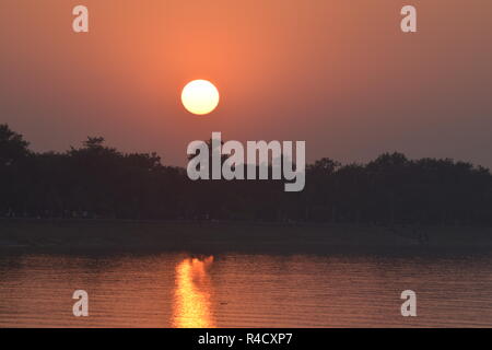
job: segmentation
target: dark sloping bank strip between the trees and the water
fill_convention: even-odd
[[[0,250],[491,253],[492,229],[237,222],[0,220]]]

